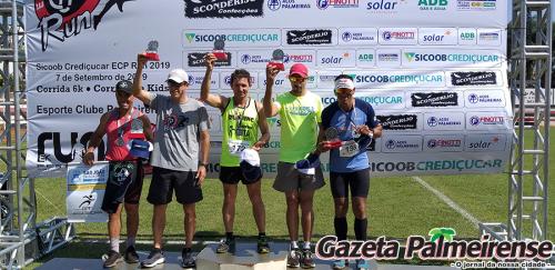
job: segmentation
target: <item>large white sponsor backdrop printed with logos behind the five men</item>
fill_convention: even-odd
[[[464,2],[475,4],[465,6]],[[382,116],[381,120],[389,129],[385,131],[387,136],[422,137],[420,152],[395,152],[413,151],[403,148],[402,142],[395,144],[397,150],[384,151],[382,139],[371,144],[367,151],[372,159],[383,162],[375,167],[377,174],[501,171],[497,164],[505,164],[508,149],[451,152],[444,148],[450,151],[431,153],[424,144],[427,136],[448,137],[453,133],[507,134],[509,144],[511,123],[492,131],[488,131],[492,126],[470,127],[468,123],[470,114],[483,110],[492,116],[512,116],[508,89],[503,88],[506,77],[502,73],[507,70],[507,34],[504,30],[508,21],[507,2],[486,2],[28,1],[27,171],[30,177],[62,177],[67,163],[81,162],[81,152],[100,117],[117,106],[115,83],[133,80],[137,53],[145,51],[151,41],[159,43],[160,61],[145,64],[141,74],[144,89],[155,94],[169,94],[168,73],[183,68],[191,81],[186,94],[199,98],[205,70],[203,54],[213,51],[218,40],[224,41],[228,60],[216,62],[210,83],[214,93],[225,97],[232,96],[229,86],[231,72],[244,68],[252,74],[249,94],[262,99],[265,64],[276,49],[284,52],[286,70],[278,74],[274,96],[291,89],[286,76],[293,63],[309,67],[306,87],[320,94],[324,104],[335,99],[332,89],[337,74],[347,73],[355,80],[359,77],[355,94],[370,102]],[[491,3],[495,3],[495,8]],[[138,29],[141,34],[125,34]],[[343,58],[345,52],[349,58]],[[494,57],[498,57],[498,61]],[[492,72],[495,78],[492,78]],[[470,94],[482,94],[478,90],[483,88],[494,96],[476,97],[472,100],[477,102],[470,103]],[[433,97],[441,92],[456,92],[458,107],[433,99],[442,98]],[[500,92],[504,93],[504,104],[496,103]],[[414,98],[432,100],[417,104],[422,107],[413,107],[411,93],[420,93]],[[155,122],[153,110],[139,101],[134,106]],[[209,177],[215,178],[222,121],[218,109],[208,107],[208,111],[212,126]],[[488,117],[486,114],[478,114],[478,118]],[[265,177],[271,178],[281,150],[281,122],[279,118],[270,118],[269,122],[272,141],[262,151],[262,167]],[[98,160],[105,160],[105,147],[103,141],[97,149]],[[325,159],[323,167],[327,170]],[[90,194],[83,193],[79,199]]]

